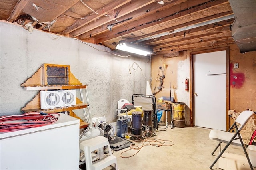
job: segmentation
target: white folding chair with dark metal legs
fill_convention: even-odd
[[[236,146],[242,146],[244,149],[244,153],[246,155],[246,158],[248,160],[248,163],[250,165],[251,170],[253,170],[252,168],[252,164],[250,162],[250,159],[248,157],[248,154],[246,152],[246,148],[244,146],[244,142],[242,140],[242,137],[240,135],[240,131],[242,130],[242,128],[244,127],[244,125],[246,124],[246,122],[248,121],[248,119],[254,114],[253,111],[243,111],[242,113],[240,113],[240,115],[238,115],[238,117],[236,118],[234,124],[230,127],[230,129],[225,132],[222,130],[216,130],[216,129],[212,129],[209,133],[209,138],[212,140],[217,140],[219,141],[219,144],[216,146],[216,148],[214,149],[214,151],[212,152],[212,155],[214,154],[214,152],[218,149],[218,147],[221,147],[221,143],[226,143],[226,146],[224,147],[224,149],[220,152],[220,154],[218,155],[218,157],[214,160],[214,162],[212,163],[212,165],[210,166],[210,169],[212,169],[212,167],[214,166],[214,164],[218,161],[218,159],[220,158],[220,156],[222,156],[222,154],[225,152],[225,150],[228,148],[228,146],[230,144],[232,145],[236,145]],[[237,126],[236,123],[239,123],[240,125]],[[231,129],[236,128],[236,133],[232,133],[230,132]]]

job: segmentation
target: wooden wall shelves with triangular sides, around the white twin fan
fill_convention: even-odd
[[[57,85],[49,85],[47,82],[47,69],[49,67],[54,68],[65,68],[67,76],[65,77],[67,79],[67,84],[57,84]],[[52,72],[54,73],[54,72]],[[52,77],[52,76],[48,76]],[[58,76],[60,77],[60,76]],[[54,77],[55,78],[55,77]],[[35,97],[21,109],[23,113],[28,112],[44,112],[44,113],[57,113],[57,112],[65,112],[69,111],[70,116],[76,117],[80,119],[80,128],[87,127],[88,123],[84,122],[80,117],[78,117],[72,110],[75,109],[84,109],[89,106],[87,103],[83,103],[78,97],[76,97],[76,105],[69,106],[69,107],[57,107],[53,109],[41,109],[40,105],[40,91],[44,90],[62,90],[62,89],[86,89],[87,85],[83,85],[80,83],[76,77],[70,72],[70,66],[69,65],[53,65],[53,64],[43,64],[42,67],[38,69],[32,75],[32,77],[28,78],[24,83],[21,84],[21,87],[26,91],[31,90],[37,90],[38,93],[35,95]],[[87,95],[87,91],[86,91]],[[82,96],[81,96],[82,97]]]

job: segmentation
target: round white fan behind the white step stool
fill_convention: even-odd
[[[81,143],[84,140],[88,140],[91,138],[95,138],[97,136],[104,136],[104,131],[99,128],[99,127],[90,127],[87,128],[86,130],[84,130],[84,132],[82,132],[79,136],[79,143]],[[103,155],[103,150],[100,152],[98,152],[98,155],[96,153],[91,153],[92,155],[92,160],[97,160],[98,158],[102,157]],[[82,161],[79,164],[82,164],[85,162],[85,156],[84,156],[84,152],[80,152],[80,160]]]

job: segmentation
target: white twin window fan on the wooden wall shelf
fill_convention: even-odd
[[[41,109],[76,105],[76,90],[40,91]]]

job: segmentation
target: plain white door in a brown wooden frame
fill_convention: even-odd
[[[194,125],[226,131],[226,51],[193,55]]]

